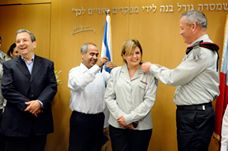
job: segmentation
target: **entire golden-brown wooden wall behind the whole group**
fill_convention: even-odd
[[[28,3],[26,0],[17,0],[16,2]],[[72,67],[79,65],[81,61],[79,49],[84,42],[91,41],[101,46],[105,21],[104,14],[93,13],[89,15],[85,13],[84,15],[76,16],[72,8],[88,10],[89,8],[112,9],[138,6],[140,8],[139,13],[119,12],[111,14],[114,62],[118,65],[122,64],[120,49],[123,41],[129,38],[137,38],[143,46],[143,60],[149,60],[172,68],[181,61],[186,48],[182,38],[179,36],[179,16],[183,11],[178,11],[177,3],[193,4],[197,9],[200,3],[226,3],[226,0],[208,0],[207,2],[189,2],[187,0],[93,0],[86,2],[83,0],[52,0],[49,2],[36,0],[32,2],[34,4],[0,6],[0,35],[6,36],[3,45],[9,45],[11,39],[15,36],[15,30],[26,24],[26,28],[33,30],[37,35],[40,46],[37,51],[40,55],[53,60],[56,70],[61,71],[61,84],[58,87],[58,94],[53,104],[55,132],[49,135],[47,151],[65,151],[68,146],[70,116],[68,107],[70,96],[69,89],[67,88],[68,71]],[[42,4],[39,2],[42,2]],[[4,2],[1,2],[1,4],[4,4]],[[143,6],[152,4],[157,6],[156,12],[142,11]],[[174,12],[160,12],[161,5],[174,6]],[[13,9],[10,11],[12,14],[9,14],[8,10],[12,7]],[[21,16],[16,15],[25,11],[22,8],[28,8],[26,13]],[[15,10],[17,11],[15,12]],[[209,20],[208,33],[212,40],[222,48],[227,11],[209,11],[205,9],[204,12]],[[8,15],[7,19],[4,18],[4,14]],[[38,21],[39,18],[42,21]],[[12,21],[14,21],[14,24],[11,23]],[[89,26],[95,31],[81,32],[73,35],[73,30],[81,26]],[[6,49],[6,46],[4,48]],[[45,53],[43,52],[44,50]],[[47,54],[46,51],[49,53]],[[172,102],[174,90],[174,87],[159,83],[157,101],[153,107],[154,129],[149,148],[151,151],[177,150],[175,104]],[[216,149],[216,143],[212,142],[210,150],[215,151]]]

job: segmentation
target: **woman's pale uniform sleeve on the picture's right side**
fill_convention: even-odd
[[[154,105],[157,92],[157,80],[154,76],[150,76],[150,80],[147,81],[143,101],[133,111],[131,111],[130,114],[125,115],[125,121],[127,124],[143,119]]]

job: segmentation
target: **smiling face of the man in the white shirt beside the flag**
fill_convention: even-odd
[[[99,52],[96,46],[89,44],[86,53],[82,54],[82,63],[87,67],[91,68],[97,63]]]

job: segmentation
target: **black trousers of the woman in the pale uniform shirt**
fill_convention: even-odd
[[[109,126],[112,151],[147,151],[152,129],[130,130]]]

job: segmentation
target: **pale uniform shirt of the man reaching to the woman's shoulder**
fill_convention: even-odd
[[[208,35],[198,41],[211,42]],[[208,103],[219,95],[217,53],[202,47],[194,47],[175,69],[152,64],[150,72],[165,84],[177,86],[174,102],[177,105]]]

